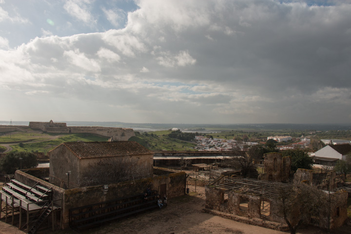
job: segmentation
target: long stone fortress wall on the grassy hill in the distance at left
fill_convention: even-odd
[[[67,126],[66,123],[54,123],[52,120],[50,122],[29,122],[29,128],[40,129],[48,133],[90,133],[110,137],[110,141],[128,140],[135,136],[134,130],[131,128]]]

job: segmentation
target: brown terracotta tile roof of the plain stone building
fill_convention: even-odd
[[[154,154],[136,141],[65,142],[62,145],[79,159]]]

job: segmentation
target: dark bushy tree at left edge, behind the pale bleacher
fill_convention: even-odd
[[[11,152],[0,160],[1,171],[13,174],[18,169],[38,166],[37,156],[30,152]]]

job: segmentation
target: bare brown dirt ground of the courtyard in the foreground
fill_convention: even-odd
[[[205,207],[204,187],[189,186],[190,195],[168,200],[168,206],[119,221],[106,223],[100,227],[81,231],[84,234],[287,234],[286,232],[235,222],[202,212]],[[9,222],[9,221],[8,221]],[[351,229],[345,227],[345,230]],[[0,220],[0,234],[23,234]],[[68,229],[40,231],[41,234],[78,234]],[[299,234],[327,234],[316,228],[298,230]],[[338,231],[338,234],[351,232]]]

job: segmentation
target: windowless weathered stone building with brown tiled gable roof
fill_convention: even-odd
[[[61,188],[153,176],[154,153],[135,141],[65,142],[48,156],[49,181]]]

